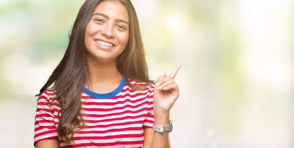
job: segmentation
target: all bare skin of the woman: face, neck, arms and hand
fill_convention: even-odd
[[[108,93],[120,84],[122,75],[116,67],[116,58],[123,52],[128,42],[128,13],[124,5],[116,0],[106,0],[98,4],[86,28],[85,45],[88,51],[89,77],[86,87],[97,93]],[[96,40],[112,43],[114,47],[100,46]],[[154,123],[169,124],[170,109],[179,97],[174,77],[180,64],[172,71],[158,77],[154,87]],[[102,89],[101,89],[102,88]],[[144,128],[144,148],[170,148],[168,133],[154,132]],[[57,138],[42,140],[36,148],[60,148]]]

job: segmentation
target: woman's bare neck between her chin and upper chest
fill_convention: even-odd
[[[88,60],[88,79],[87,82],[91,84],[98,84],[103,82],[120,82],[122,74],[117,69],[116,61],[98,63]]]

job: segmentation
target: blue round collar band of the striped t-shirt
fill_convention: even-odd
[[[125,83],[126,82],[125,82],[125,79],[124,79],[124,76],[123,76],[120,85],[115,90],[113,90],[112,92],[109,92],[109,93],[106,93],[106,94],[99,94],[99,93],[95,93],[95,92],[89,90],[85,86],[83,86],[83,92],[85,94],[87,94],[88,96],[91,96],[91,97],[94,97],[94,98],[97,98],[97,99],[107,99],[107,98],[111,98],[111,97],[114,97],[114,96],[118,95],[123,90],[123,88],[125,86]]]

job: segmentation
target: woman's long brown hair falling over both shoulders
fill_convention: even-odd
[[[71,34],[66,52],[58,66],[50,75],[46,84],[41,88],[41,96],[49,86],[53,85],[62,113],[59,117],[57,132],[64,142],[73,143],[73,134],[76,127],[84,127],[80,113],[82,86],[88,76],[87,53],[85,46],[85,31],[90,19],[102,0],[86,0],[80,7]],[[125,77],[127,84],[133,89],[140,89],[153,83],[148,78],[147,63],[139,22],[134,6],[130,0],[118,0],[126,7],[129,15],[129,39],[122,54],[117,57],[117,68]],[[146,85],[132,85],[129,79],[146,82]],[[59,113],[58,113],[59,114]],[[80,129],[81,129],[80,128]]]

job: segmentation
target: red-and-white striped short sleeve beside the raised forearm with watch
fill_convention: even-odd
[[[151,127],[152,128],[152,124],[154,122],[154,115],[153,115],[153,89],[154,89],[154,86],[151,85],[149,87],[149,90],[148,90],[148,112],[147,112],[147,116],[145,118],[145,121],[143,123],[143,126],[144,127]]]

